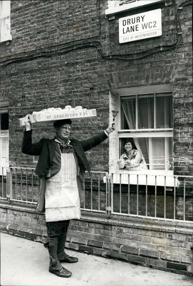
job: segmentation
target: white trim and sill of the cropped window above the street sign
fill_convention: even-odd
[[[105,16],[110,16],[110,15],[120,13],[123,11],[128,11],[131,9],[136,9],[138,7],[143,7],[143,6],[156,4],[156,3],[164,2],[164,1],[165,0],[137,0],[131,3],[127,3],[127,1],[124,1],[124,0],[123,1],[110,0],[108,1],[108,9],[105,10]]]

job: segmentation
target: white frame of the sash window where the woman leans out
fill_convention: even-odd
[[[109,143],[109,171],[110,172],[127,172],[129,174],[154,174],[155,170],[135,170],[135,171],[130,171],[130,170],[119,170],[117,160],[119,159],[119,150],[120,150],[120,138],[126,138],[126,137],[163,137],[165,138],[164,144],[165,144],[165,153],[167,153],[166,150],[166,140],[168,137],[173,139],[173,128],[156,128],[156,129],[138,129],[138,130],[124,130],[121,129],[121,108],[120,108],[120,98],[124,97],[129,97],[132,96],[133,94],[156,94],[156,93],[171,93],[173,94],[173,86],[172,84],[163,84],[163,85],[154,85],[154,86],[141,86],[141,87],[132,87],[132,88],[120,88],[120,89],[114,89],[110,91],[110,96],[109,96],[109,107],[110,107],[110,116],[109,120],[112,120],[112,113],[111,110],[118,110],[119,113],[117,114],[117,118],[115,118],[115,123],[118,122],[117,124],[117,130],[116,130],[116,135],[109,135],[109,142],[112,140],[112,142],[116,142],[114,144]],[[154,102],[155,104],[155,102]],[[155,116],[155,114],[154,114]],[[155,132],[156,131],[156,132]],[[137,135],[137,136],[136,136]],[[172,154],[173,157],[173,154]],[[156,170],[159,174],[168,174],[172,175],[173,170],[168,170],[166,167],[167,165],[169,166],[169,163],[166,163],[166,156],[165,156],[165,170]]]

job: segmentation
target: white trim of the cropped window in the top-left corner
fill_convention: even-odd
[[[7,25],[7,32],[5,33],[5,31],[2,31],[2,30],[5,30],[6,27],[1,27],[1,38],[0,38],[0,42],[1,43],[12,40],[11,20],[10,20],[10,18],[11,18],[11,1],[10,0],[4,0],[4,1],[9,2],[9,4],[8,4],[9,9],[6,10],[6,11],[2,11],[1,16],[0,16],[1,20],[7,18],[5,20],[6,21],[6,25]],[[0,1],[1,2],[1,7],[2,7],[2,2],[4,2],[4,1]],[[5,35],[5,34],[7,34],[7,35]]]

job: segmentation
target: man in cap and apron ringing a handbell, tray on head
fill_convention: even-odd
[[[39,156],[35,173],[40,177],[37,212],[44,212],[48,239],[44,244],[50,255],[49,271],[60,277],[72,273],[62,267],[61,262],[75,263],[64,251],[70,219],[80,219],[80,202],[84,202],[84,173],[90,165],[84,152],[103,142],[115,130],[115,123],[88,140],[69,140],[70,119],[54,122],[56,136],[41,139],[32,144],[32,129],[29,119],[25,121],[21,150]]]

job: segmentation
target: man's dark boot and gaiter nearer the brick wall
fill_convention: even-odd
[[[66,233],[61,233],[58,237],[57,256],[60,262],[75,263],[78,261],[77,257],[69,256],[65,253],[64,247],[66,242]]]

